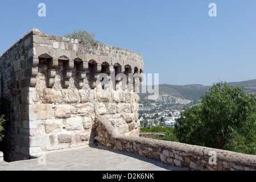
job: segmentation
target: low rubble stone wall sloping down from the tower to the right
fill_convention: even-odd
[[[255,171],[256,156],[163,140],[126,137],[101,115],[96,116],[97,142],[166,164],[191,170]],[[214,154],[214,155],[212,155]],[[214,161],[216,159],[216,161]],[[216,163],[215,163],[216,162]],[[212,163],[212,164],[210,164]]]

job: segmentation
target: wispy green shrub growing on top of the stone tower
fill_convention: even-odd
[[[101,44],[101,42],[98,42],[98,40],[94,40],[94,34],[88,32],[86,30],[76,29],[73,32],[65,34],[65,38],[78,39],[81,44],[84,44],[88,47],[90,45],[98,47],[98,45]]]

